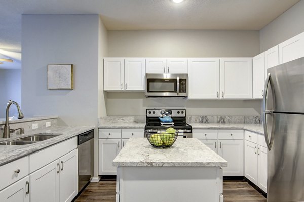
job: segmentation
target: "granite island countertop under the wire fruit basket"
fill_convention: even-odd
[[[163,149],[153,147],[146,138],[132,137],[113,166],[225,167],[227,161],[196,138],[178,138]]]

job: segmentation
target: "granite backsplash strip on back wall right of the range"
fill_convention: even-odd
[[[187,116],[187,123],[247,123],[260,124],[260,116]]]

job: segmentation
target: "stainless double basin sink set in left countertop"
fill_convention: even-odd
[[[44,141],[53,137],[57,137],[58,135],[62,135],[62,133],[37,133],[28,137],[22,137],[19,139],[2,142],[0,145],[24,145],[24,144],[32,144],[40,141]]]

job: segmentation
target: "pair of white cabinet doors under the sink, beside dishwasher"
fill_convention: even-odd
[[[30,201],[71,201],[78,193],[77,149],[33,172]]]

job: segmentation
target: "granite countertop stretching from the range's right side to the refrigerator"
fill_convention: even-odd
[[[233,123],[189,123],[192,129],[245,129],[264,134],[262,124],[233,124]]]

